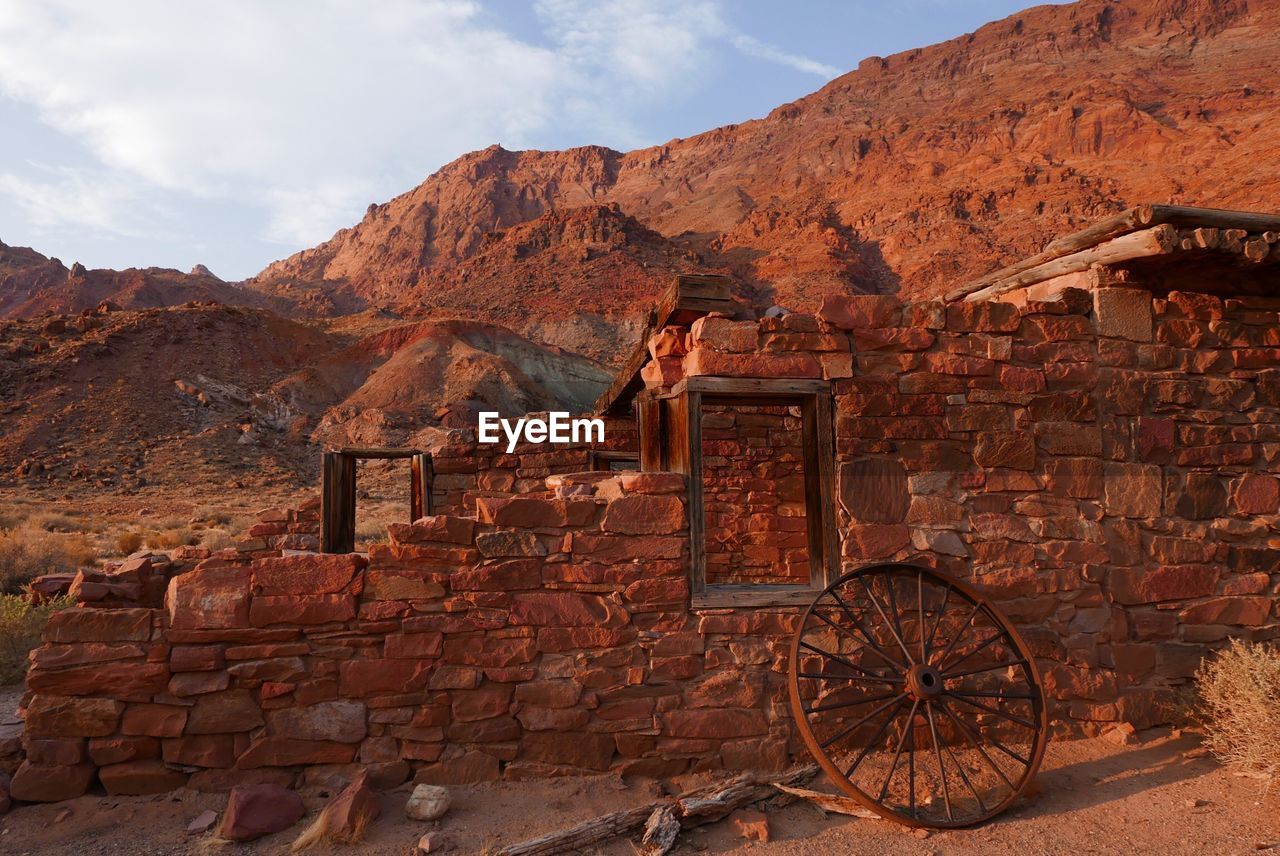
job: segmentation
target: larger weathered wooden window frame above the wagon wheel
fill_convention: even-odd
[[[703,406],[799,406],[804,449],[805,521],[809,528],[808,585],[708,585],[703,500]],[[686,377],[639,413],[645,470],[689,476],[689,581],[694,609],[808,605],[840,576],[836,530],[836,450],[831,384],[824,380]],[[666,430],[662,430],[666,429]],[[662,436],[660,444],[654,438]]]

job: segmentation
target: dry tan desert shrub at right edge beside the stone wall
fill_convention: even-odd
[[[1196,681],[1210,751],[1274,782],[1280,775],[1280,649],[1231,640],[1201,665]]]

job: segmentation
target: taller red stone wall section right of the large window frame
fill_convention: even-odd
[[[831,380],[845,567],[977,583],[1041,658],[1059,731],[1096,733],[1167,718],[1226,638],[1280,636],[1277,311],[833,297],[701,319],[666,375]]]

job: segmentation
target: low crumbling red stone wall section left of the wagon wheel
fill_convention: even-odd
[[[684,477],[552,477],[360,555],[211,558],[165,609],[59,613],[20,800],[782,765],[791,617],[689,610]]]

